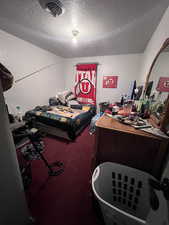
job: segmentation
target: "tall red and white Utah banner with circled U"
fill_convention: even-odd
[[[96,104],[97,64],[76,66],[75,95],[82,104]]]

